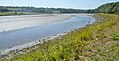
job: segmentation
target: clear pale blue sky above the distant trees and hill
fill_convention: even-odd
[[[0,0],[0,6],[95,9],[111,2],[119,2],[119,0]]]

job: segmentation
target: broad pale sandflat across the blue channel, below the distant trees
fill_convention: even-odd
[[[71,18],[71,15],[41,14],[0,16],[0,32],[39,26]]]

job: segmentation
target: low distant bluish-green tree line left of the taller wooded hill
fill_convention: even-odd
[[[59,11],[60,13],[94,13],[94,9],[66,9],[66,8],[35,8],[35,7],[11,7],[0,6],[0,12],[35,12],[35,13],[53,13]]]

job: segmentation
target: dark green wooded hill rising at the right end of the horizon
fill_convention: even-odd
[[[104,4],[96,9],[99,13],[119,14],[119,2]]]

